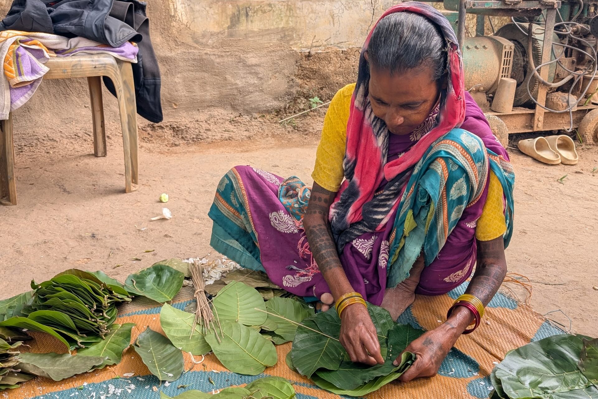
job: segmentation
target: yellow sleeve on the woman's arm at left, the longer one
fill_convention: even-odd
[[[324,117],[322,138],[316,151],[313,181],[333,193],[338,191],[344,179],[343,160],[353,90],[355,90],[355,83],[347,84],[332,98]]]

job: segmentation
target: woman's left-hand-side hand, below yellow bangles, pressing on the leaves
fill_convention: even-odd
[[[352,362],[370,366],[384,364],[384,359],[380,354],[376,327],[374,327],[368,309],[362,304],[351,304],[343,310],[340,343],[346,349]]]

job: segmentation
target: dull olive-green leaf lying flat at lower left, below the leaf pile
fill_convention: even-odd
[[[105,357],[71,356],[69,354],[20,354],[21,363],[17,366],[23,373],[60,381],[75,374],[86,373],[102,364]]]

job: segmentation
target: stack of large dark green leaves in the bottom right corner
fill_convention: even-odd
[[[598,399],[598,339],[561,334],[521,346],[490,380],[492,399]]]

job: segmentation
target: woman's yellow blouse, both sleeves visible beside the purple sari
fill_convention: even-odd
[[[334,193],[344,179],[343,159],[353,90],[355,83],[338,90],[328,106],[322,138],[316,152],[316,166],[312,173],[312,178],[318,185]],[[481,241],[489,241],[502,236],[506,231],[501,182],[490,171],[488,197],[477,221],[475,237]]]

